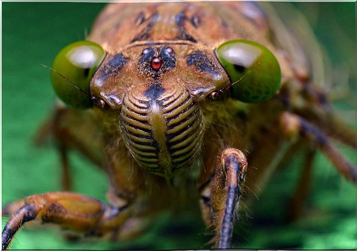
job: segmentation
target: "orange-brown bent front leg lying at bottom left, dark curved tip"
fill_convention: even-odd
[[[15,206],[15,205],[14,205]],[[150,222],[135,217],[132,206],[117,207],[96,199],[69,192],[32,195],[16,210],[2,231],[2,249],[6,249],[16,232],[29,221],[54,223],[86,236],[109,236],[127,239],[136,236]]]

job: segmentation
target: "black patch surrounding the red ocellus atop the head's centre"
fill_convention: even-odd
[[[148,77],[152,77],[155,80],[159,79],[162,73],[175,68],[176,57],[174,53],[167,51],[167,47],[150,47],[146,48],[147,53],[143,53],[139,58],[137,64],[137,70]],[[151,60],[154,57],[160,57],[162,60],[162,65],[159,69],[154,69],[151,66]]]

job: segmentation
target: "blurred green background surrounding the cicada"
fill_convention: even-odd
[[[277,6],[286,3],[277,3]],[[60,190],[59,157],[52,147],[32,145],[36,129],[51,109],[54,93],[49,70],[56,53],[82,40],[103,3],[2,3],[2,205],[27,195]],[[355,3],[301,3],[333,66],[355,69]],[[318,12],[317,12],[318,9]],[[318,13],[318,14],[317,14]],[[352,55],[352,60],[351,60]],[[347,65],[346,65],[347,62]],[[348,66],[348,62],[350,65]],[[352,64],[352,65],[351,65]],[[352,88],[355,76],[350,76]],[[355,96],[353,96],[355,97]],[[341,114],[353,114],[353,99],[336,102]],[[350,116],[351,117],[351,116]],[[353,163],[354,149],[337,144]],[[74,191],[105,200],[107,177],[72,154]],[[355,249],[356,189],[341,178],[321,153],[314,158],[313,179],[304,216],[284,224],[286,204],[296,186],[302,154],[274,174],[250,218],[236,226],[233,244],[243,248]],[[4,219],[3,219],[4,226]],[[193,249],[210,240],[195,212],[162,215],[150,231],[126,242],[67,242],[56,229],[25,228],[14,249]]]

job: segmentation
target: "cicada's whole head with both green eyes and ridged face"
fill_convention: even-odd
[[[76,89],[53,73],[59,97],[72,107],[91,107],[99,100],[118,111],[115,123],[132,158],[169,178],[189,167],[200,151],[204,119],[198,103],[221,93],[261,102],[281,81],[276,58],[251,41],[228,41],[215,50],[190,42],[145,42],[115,53],[92,42],[77,43],[54,62],[55,70],[79,84]]]

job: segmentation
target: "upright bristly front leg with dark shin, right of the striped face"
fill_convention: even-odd
[[[211,196],[203,206],[210,206],[210,216],[204,217],[216,231],[219,249],[230,248],[235,209],[242,196],[246,171],[247,159],[240,150],[226,148],[218,155],[215,176],[209,185]]]

